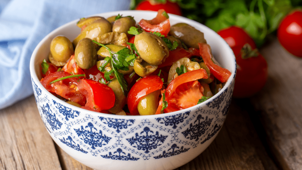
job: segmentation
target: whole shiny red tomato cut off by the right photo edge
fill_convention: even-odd
[[[295,10],[281,21],[277,37],[280,44],[291,54],[302,57],[302,11]]]

